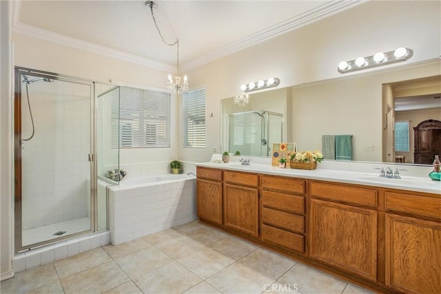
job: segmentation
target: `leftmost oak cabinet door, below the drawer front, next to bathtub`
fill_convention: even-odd
[[[222,224],[222,183],[198,179],[196,191],[198,217]]]

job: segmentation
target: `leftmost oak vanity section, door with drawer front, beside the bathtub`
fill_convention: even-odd
[[[223,223],[222,176],[220,169],[196,167],[196,211],[201,220]]]

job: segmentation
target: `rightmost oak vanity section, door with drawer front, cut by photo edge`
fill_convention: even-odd
[[[441,198],[387,191],[384,200],[386,285],[441,293]]]

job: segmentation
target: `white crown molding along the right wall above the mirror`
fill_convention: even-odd
[[[325,3],[322,6],[311,9],[297,17],[293,17],[287,21],[273,25],[272,27],[258,32],[257,34],[252,34],[251,36],[237,41],[236,43],[232,43],[231,45],[228,45],[220,50],[201,56],[193,61],[183,63],[183,65],[181,65],[181,69],[192,70],[216,59],[220,59],[223,56],[227,56],[234,52],[238,52],[239,50],[251,47],[252,45],[262,43],[274,38],[275,36],[296,30],[309,23],[313,23],[314,21],[324,19],[325,17],[337,14],[338,12],[348,10],[349,8],[353,8],[367,1],[369,0],[331,1],[329,3]]]

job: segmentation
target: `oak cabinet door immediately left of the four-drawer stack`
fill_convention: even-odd
[[[258,189],[224,185],[225,227],[258,238]]]

